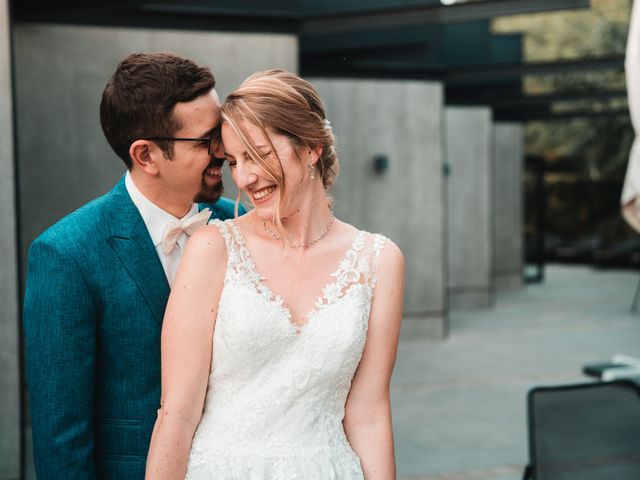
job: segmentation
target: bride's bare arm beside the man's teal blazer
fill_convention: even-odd
[[[162,404],[146,478],[184,479],[207,389],[226,247],[215,226],[187,243],[162,324]]]

